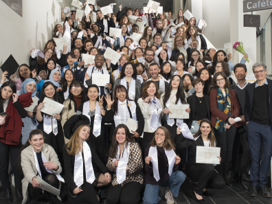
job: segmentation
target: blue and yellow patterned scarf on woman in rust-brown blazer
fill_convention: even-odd
[[[220,111],[223,111],[225,114],[227,114],[229,117],[231,115],[231,97],[229,94],[229,89],[225,89],[226,95],[224,96],[221,89],[217,88],[217,103],[218,103],[218,109]],[[223,131],[226,131],[225,129],[225,122],[223,120],[220,120],[219,117],[216,117],[216,130],[218,133],[222,133]]]

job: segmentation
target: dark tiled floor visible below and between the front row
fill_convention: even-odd
[[[192,190],[194,189],[194,184],[186,179],[181,185],[181,189],[179,192],[179,197],[175,200],[177,203],[189,203],[194,204],[196,201],[192,196]],[[269,192],[272,194],[272,190],[267,188]],[[166,199],[164,198],[166,188],[161,188],[161,201],[159,204],[166,204]],[[272,199],[267,199],[262,196],[258,196],[257,198],[253,198],[247,194],[245,190],[243,190],[241,183],[234,183],[234,185],[230,188],[226,186],[223,190],[213,190],[208,189],[209,196],[203,196],[205,202],[207,204],[272,204]],[[14,204],[20,203],[16,201],[16,196],[14,194],[14,188],[12,188],[12,196],[14,198]],[[4,204],[3,201],[3,192],[0,194],[0,204]],[[101,203],[106,203],[105,200],[102,200]],[[39,203],[40,204],[40,203]],[[41,202],[41,204],[45,204],[45,202]]]

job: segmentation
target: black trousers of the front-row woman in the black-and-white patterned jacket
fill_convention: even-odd
[[[106,193],[106,201],[109,204],[137,204],[141,199],[140,192],[141,183],[136,181],[126,183],[123,187],[121,184],[114,186],[110,184]]]

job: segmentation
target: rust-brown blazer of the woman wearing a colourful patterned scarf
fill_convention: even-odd
[[[240,114],[240,104],[239,104],[239,101],[237,99],[234,89],[229,89],[229,94],[231,96],[231,115],[230,115],[230,117],[235,118],[235,117],[238,117]],[[209,108],[211,109],[211,112],[212,112],[211,122],[212,122],[213,127],[216,124],[216,117],[219,117],[224,122],[229,117],[223,111],[220,111],[218,109],[217,95],[218,95],[217,89],[212,89],[211,92],[209,93]],[[236,126],[236,128],[238,128],[239,126],[241,126],[241,124],[236,123],[235,126]]]

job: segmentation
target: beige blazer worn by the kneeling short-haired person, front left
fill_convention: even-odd
[[[49,146],[49,144],[43,144],[43,155],[47,161],[52,161],[58,165],[58,170],[52,170],[54,174],[60,174],[63,170],[60,166],[60,161],[58,161],[58,155],[56,154],[54,148]],[[38,170],[36,169],[35,157],[33,153],[32,146],[28,146],[21,152],[21,166],[23,169],[23,175],[25,176],[22,180],[23,186],[23,204],[26,203],[28,198],[28,183],[32,183],[33,177],[38,175]]]

